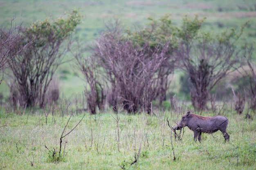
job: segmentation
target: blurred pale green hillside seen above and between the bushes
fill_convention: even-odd
[[[115,19],[121,21],[125,29],[134,30],[144,28],[150,21],[147,18],[158,19],[166,13],[171,14],[174,24],[181,24],[184,15],[207,19],[202,25],[206,31],[220,33],[234,28],[239,29],[245,22],[246,25],[238,44],[253,43],[256,40],[256,2],[254,0],[1,0],[0,1],[0,27],[10,28],[10,20],[13,16],[16,19],[13,25],[22,23],[29,26],[37,20],[44,20],[51,16],[58,19],[65,12],[79,9],[83,15],[81,24],[76,26],[75,39],[83,46],[92,44],[96,38],[106,29],[105,24]],[[252,55],[253,62],[256,61],[256,54]],[[66,59],[73,59],[71,54],[65,55]],[[58,67],[54,75],[58,79],[60,93],[67,97],[82,95],[84,87],[87,86],[81,72],[75,62],[71,61]],[[79,77],[80,76],[80,77]],[[239,74],[234,72],[227,79],[220,81],[212,91],[217,93],[219,98],[226,94],[232,96],[232,90],[227,85],[234,84],[234,89],[247,86],[248,83]],[[238,77],[238,78],[237,78]],[[180,100],[189,100],[189,75],[176,70],[171,77],[171,89],[168,97],[176,96]],[[6,77],[0,84],[0,93],[3,98],[9,97],[9,88]]]

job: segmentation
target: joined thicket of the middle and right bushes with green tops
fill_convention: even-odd
[[[92,47],[89,58],[109,86],[109,104],[114,108],[124,104],[129,113],[150,113],[153,100],[163,104],[169,76],[180,68],[189,75],[194,108],[204,110],[214,86],[244,64],[248,49],[237,44],[246,23],[238,32],[214,34],[202,30],[205,18],[198,16],[185,16],[181,26],[173,24],[169,15],[149,20],[148,26],[136,31],[124,31],[117,21]]]

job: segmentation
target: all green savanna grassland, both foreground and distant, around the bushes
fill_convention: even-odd
[[[115,18],[121,20],[124,27],[133,29],[135,26],[142,28],[148,23],[148,17],[159,18],[166,13],[171,13],[175,24],[180,24],[185,14],[207,17],[202,28],[217,33],[239,28],[249,21],[239,43],[256,40],[254,0],[0,0],[0,26],[8,28],[13,15],[16,15],[14,25],[22,22],[28,26],[51,15],[58,18],[74,8],[83,15],[75,38],[84,45],[94,42],[104,31],[104,24]],[[71,57],[66,55],[67,59]],[[253,57],[255,61],[255,53]],[[256,115],[247,106],[244,114],[238,115],[230,99],[223,107],[223,101],[218,102],[216,113],[211,110],[201,113],[204,116],[220,114],[229,119],[228,143],[220,131],[203,134],[202,142],[194,142],[193,131],[187,127],[181,131],[179,140],[175,139],[166,119],[174,127],[181,115],[193,111],[189,102],[178,101],[175,109],[171,109],[168,99],[164,108],[153,106],[150,115],[132,115],[121,108],[119,112],[107,108],[90,115],[86,110],[79,110],[85,108],[85,99],[81,96],[86,83],[77,75],[81,73],[75,62],[58,68],[55,78],[62,95],[56,104],[45,110],[15,110],[8,103],[8,77],[5,77],[0,84],[0,170],[256,168]],[[180,72],[175,71],[171,82],[171,91],[175,93],[180,87],[179,75]],[[251,119],[245,119],[247,113]]]

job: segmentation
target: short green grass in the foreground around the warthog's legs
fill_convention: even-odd
[[[179,113],[164,112],[157,116],[145,114],[116,115],[112,111],[90,116],[63,139],[65,157],[59,163],[49,159],[49,149],[59,148],[59,138],[68,115],[49,115],[48,123],[38,111],[33,115],[0,114],[1,169],[244,169],[256,168],[256,122],[235,113],[229,118],[225,143],[220,131],[203,134],[202,142],[193,141],[193,132],[187,127],[181,141],[175,141],[168,127],[175,124]],[[211,113],[204,113],[205,115]],[[70,119],[65,133],[71,130],[83,115]],[[117,116],[119,116],[119,142]],[[180,116],[181,117],[181,116]],[[179,119],[180,119],[179,117]],[[115,118],[115,119],[114,119]],[[255,119],[255,115],[253,116]],[[171,138],[172,137],[172,138]],[[64,143],[63,142],[63,143]],[[175,152],[173,160],[172,145]],[[135,154],[140,156],[137,163]],[[63,150],[61,152],[63,154]],[[31,162],[33,166],[31,166]]]

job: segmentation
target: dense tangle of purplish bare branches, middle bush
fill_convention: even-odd
[[[167,89],[167,77],[173,71],[168,50],[168,41],[152,48],[149,42],[138,44],[127,38],[118,22],[108,27],[97,39],[91,57],[110,82],[110,104],[122,103],[128,113],[150,113],[150,103]]]

